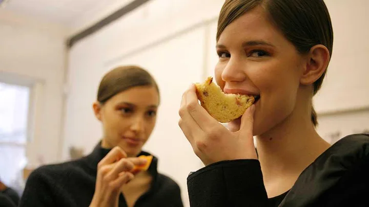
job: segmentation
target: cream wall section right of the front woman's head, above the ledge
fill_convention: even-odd
[[[331,14],[334,43],[323,87],[316,95],[317,112],[369,108],[369,1],[325,0]]]

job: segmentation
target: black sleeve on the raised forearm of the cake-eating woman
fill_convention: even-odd
[[[266,206],[261,167],[257,159],[214,163],[187,179],[191,206]]]

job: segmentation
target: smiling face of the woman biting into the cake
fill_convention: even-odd
[[[295,108],[303,57],[268,21],[261,7],[234,20],[217,41],[215,77],[224,93],[259,96],[254,135],[281,123]],[[239,128],[239,119],[229,123]]]

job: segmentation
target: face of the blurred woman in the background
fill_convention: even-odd
[[[95,103],[96,117],[103,123],[103,147],[119,146],[128,156],[139,154],[155,127],[158,105],[159,94],[153,86],[132,87],[103,106]]]

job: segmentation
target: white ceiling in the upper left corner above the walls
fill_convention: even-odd
[[[81,28],[133,0],[9,0],[3,9],[69,28]]]

